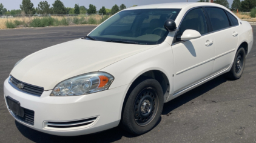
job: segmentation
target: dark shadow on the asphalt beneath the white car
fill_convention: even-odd
[[[224,78],[224,76],[219,76],[209,82],[206,82],[206,84],[200,85],[200,87],[197,87],[194,90],[191,90],[184,95],[179,96],[178,98],[175,98],[170,102],[167,102],[166,104],[164,104],[162,115],[167,115],[175,108],[186,104],[192,99],[203,95],[207,91],[217,87],[218,85],[226,81],[227,80],[226,78]],[[161,119],[160,121],[158,121],[158,124],[160,122]],[[25,138],[30,139],[33,142],[115,142],[123,138],[123,136],[126,138],[136,137],[136,135],[132,135],[127,131],[124,131],[120,127],[115,127],[106,131],[101,131],[99,133],[83,136],[55,136],[33,130],[32,128],[26,127],[25,125],[22,125],[17,121],[15,121],[15,124],[20,133],[25,136]]]

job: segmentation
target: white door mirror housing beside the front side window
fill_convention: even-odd
[[[197,39],[200,37],[201,37],[201,34],[197,30],[187,29],[183,32],[181,36],[177,37],[177,40],[183,41],[183,40]]]

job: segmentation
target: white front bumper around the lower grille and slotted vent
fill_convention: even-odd
[[[35,111],[34,125],[21,121],[17,116],[10,113],[16,121],[27,127],[44,133],[59,136],[77,136],[95,133],[116,127],[121,118],[121,108],[128,85],[112,88],[83,96],[49,96],[51,91],[44,91],[41,97],[29,95],[16,90],[4,82],[4,96],[19,101],[21,107]],[[6,102],[6,101],[5,101]],[[79,127],[48,127],[50,122],[73,122],[88,118],[96,119],[87,125]]]

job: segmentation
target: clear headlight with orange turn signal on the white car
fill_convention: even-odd
[[[114,77],[104,72],[87,73],[60,82],[50,96],[76,96],[107,90]]]

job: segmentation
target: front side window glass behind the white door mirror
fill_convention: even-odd
[[[177,36],[181,36],[187,29],[197,30],[201,35],[207,33],[207,24],[203,8],[196,8],[187,13],[181,22]]]

